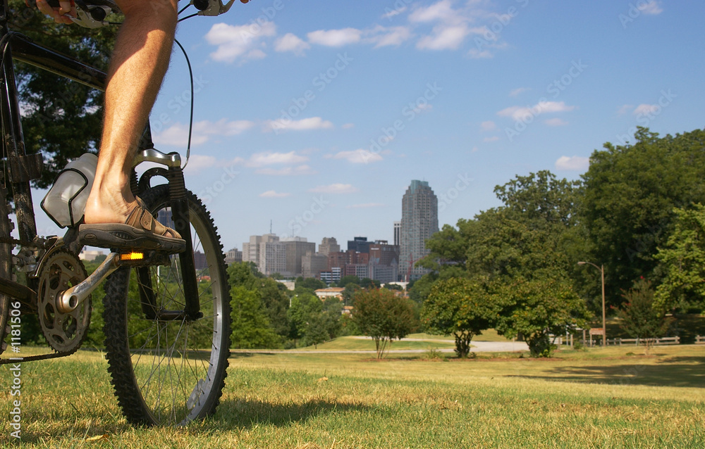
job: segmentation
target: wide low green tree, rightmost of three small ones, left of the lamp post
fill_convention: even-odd
[[[590,316],[584,301],[565,280],[517,278],[499,285],[495,297],[501,305],[495,329],[510,339],[522,336],[532,357],[549,357],[553,347],[548,334],[584,327]]]

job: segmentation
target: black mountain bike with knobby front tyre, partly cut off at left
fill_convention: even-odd
[[[110,0],[75,0],[75,4],[77,20],[88,27],[106,25],[106,15],[119,12]],[[232,4],[233,0],[225,5],[221,0],[191,0],[189,6],[197,8],[194,15],[219,15]],[[3,351],[8,343],[11,348],[16,343],[11,336],[11,311],[14,317],[14,310],[19,309],[38,315],[42,334],[54,353],[3,354],[0,364],[75,353],[90,325],[90,293],[105,281],[106,358],[115,395],[128,421],[181,425],[212,415],[225,385],[230,346],[228,279],[212,218],[185,188],[179,154],[154,148],[148,124],[135,166],[143,162],[159,166],[149,168],[140,179],[133,169],[130,186],[155,217],[171,217],[173,228],[186,241],[186,250],[176,255],[155,250],[114,251],[87,276],[78,258],[80,221],[73,223],[72,217],[63,237],[37,235],[30,181],[41,172],[42,155],[25,154],[13,61],[101,90],[106,74],[12,32],[8,11],[8,0],[2,0],[0,122],[6,170],[0,174],[0,341]],[[159,178],[166,183],[153,186]],[[10,198],[18,239],[11,236],[12,210],[6,201]],[[195,265],[195,252],[204,254],[204,267]]]

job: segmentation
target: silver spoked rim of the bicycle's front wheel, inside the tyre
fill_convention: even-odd
[[[200,305],[203,317],[189,322],[159,320],[145,317],[142,299],[135,288],[128,291],[128,346],[135,383],[142,396],[145,410],[156,424],[185,424],[208,412],[209,392],[219,382],[220,345],[223,338],[223,291],[219,273],[219,245],[209,235],[209,224],[191,213],[191,234],[195,253],[205,257],[205,267],[197,266]],[[198,258],[196,258],[198,259]],[[198,260],[196,260],[199,263]],[[144,271],[142,271],[144,270]],[[148,273],[149,281],[137,272],[130,279],[139,286],[154,291],[157,310],[183,310],[183,283],[178,257],[171,257],[168,267],[148,267],[135,271]],[[138,279],[140,281],[138,282]],[[147,308],[152,309],[152,306]],[[217,388],[217,386],[216,386]]]

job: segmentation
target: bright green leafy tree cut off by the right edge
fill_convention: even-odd
[[[656,288],[657,310],[705,311],[705,207],[675,209],[675,228],[656,260],[665,276]]]

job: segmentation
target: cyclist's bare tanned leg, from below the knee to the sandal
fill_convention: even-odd
[[[135,205],[130,171],[168,68],[177,0],[116,0],[125,14],[108,70],[98,167],[86,223],[123,223]]]

